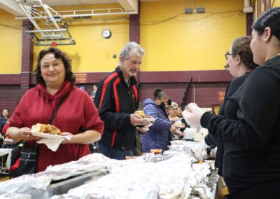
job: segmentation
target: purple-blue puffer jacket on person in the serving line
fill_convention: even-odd
[[[161,109],[152,99],[143,102],[144,113],[147,116],[157,118],[155,123],[144,135],[141,135],[143,152],[150,152],[151,149],[167,150],[172,140],[172,133],[169,131],[171,121],[165,115],[165,110]]]

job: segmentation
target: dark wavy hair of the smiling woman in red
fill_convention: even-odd
[[[62,50],[59,50],[58,48],[55,48],[55,47],[50,47],[50,48],[41,50],[41,52],[39,53],[36,70],[34,71],[36,83],[41,83],[41,84],[45,85],[45,81],[43,80],[43,77],[41,74],[40,62],[43,59],[43,57],[45,55],[47,55],[48,53],[51,53],[51,54],[55,55],[55,58],[62,60],[62,62],[64,64],[64,68],[65,68],[65,80],[70,81],[72,84],[75,83],[76,76],[72,72],[71,60],[67,57],[66,53],[63,53]]]

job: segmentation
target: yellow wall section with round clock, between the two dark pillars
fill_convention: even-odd
[[[71,11],[90,8],[116,8],[118,5],[95,5],[95,6],[71,6],[57,7],[55,11]],[[70,34],[76,41],[76,45],[57,46],[62,49],[72,60],[74,72],[113,71],[118,66],[118,55],[125,43],[129,41],[129,19],[121,16],[74,20],[67,18],[66,23]],[[110,20],[113,18],[113,20]],[[116,20],[116,18],[120,18]],[[102,37],[102,31],[110,29],[110,39]],[[40,50],[47,48],[34,47],[34,69],[36,58]]]

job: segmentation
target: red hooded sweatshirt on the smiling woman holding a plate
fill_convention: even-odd
[[[102,134],[104,123],[100,120],[92,99],[87,92],[71,85],[69,81],[65,81],[53,96],[41,84],[28,90],[10,118],[10,126],[31,128],[36,123],[47,124],[60,99],[67,93],[69,96],[55,114],[52,125],[61,132],[71,132],[73,135],[78,134],[80,129],[97,130]],[[27,144],[33,145],[34,142]],[[60,144],[55,152],[50,151],[45,144],[40,144],[37,172],[45,170],[49,165],[78,160],[87,154],[90,154],[88,144]]]

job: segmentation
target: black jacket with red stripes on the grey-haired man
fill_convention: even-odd
[[[132,148],[136,128],[130,123],[130,114],[138,109],[138,94],[136,79],[130,78],[128,88],[120,67],[99,82],[94,104],[104,121],[101,144],[114,149]]]

